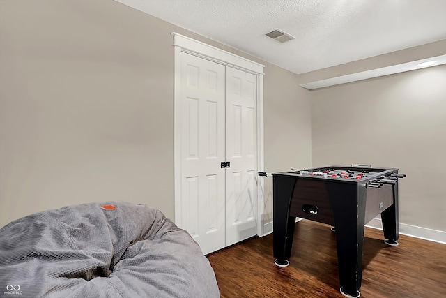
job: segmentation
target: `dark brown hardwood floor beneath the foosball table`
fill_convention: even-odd
[[[296,223],[289,267],[272,258],[272,234],[207,255],[225,297],[344,297],[339,292],[336,239],[330,225]],[[361,297],[446,297],[446,245],[400,235],[387,246],[366,228]]]

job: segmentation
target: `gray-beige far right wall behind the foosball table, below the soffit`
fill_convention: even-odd
[[[446,231],[445,82],[443,65],[309,92],[312,165],[398,167],[400,222]]]

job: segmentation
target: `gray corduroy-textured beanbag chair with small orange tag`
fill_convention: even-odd
[[[1,228],[0,288],[8,297],[220,297],[190,235],[128,202],[43,211]]]

